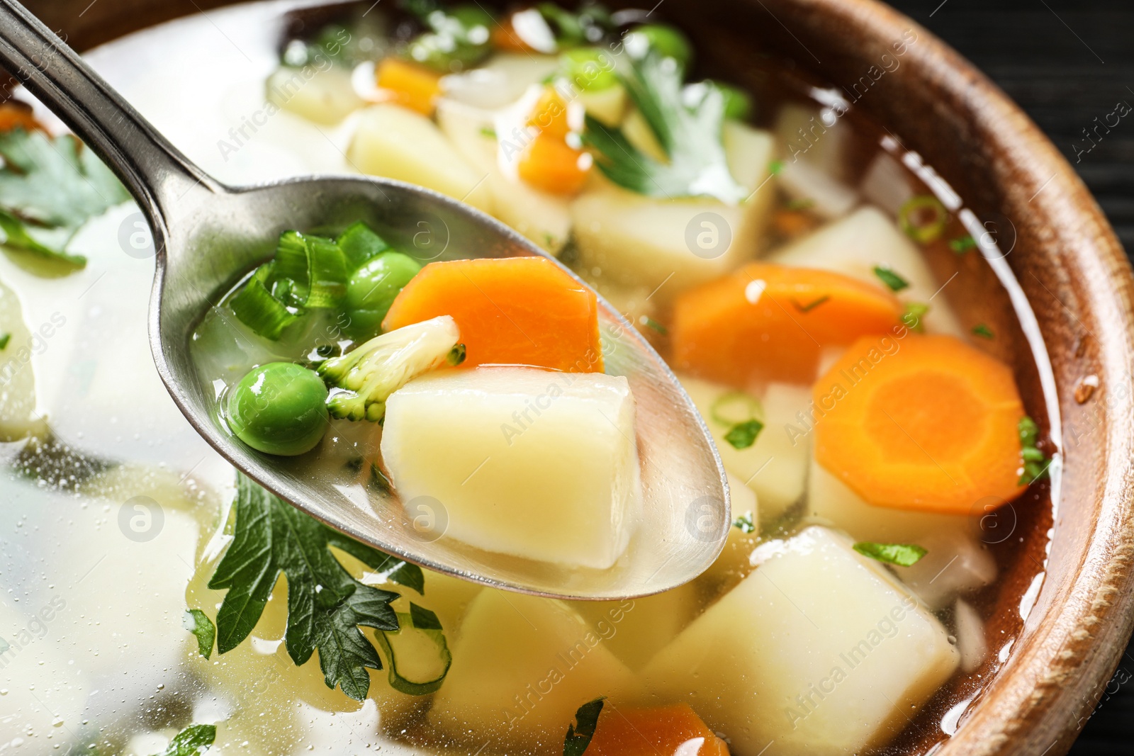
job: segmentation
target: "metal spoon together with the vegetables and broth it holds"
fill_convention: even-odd
[[[526,593],[640,596],[713,562],[730,520],[706,428],[558,261],[399,181],[225,186],[12,0],[0,61],[147,215],[158,372],[249,478],[371,546]]]

